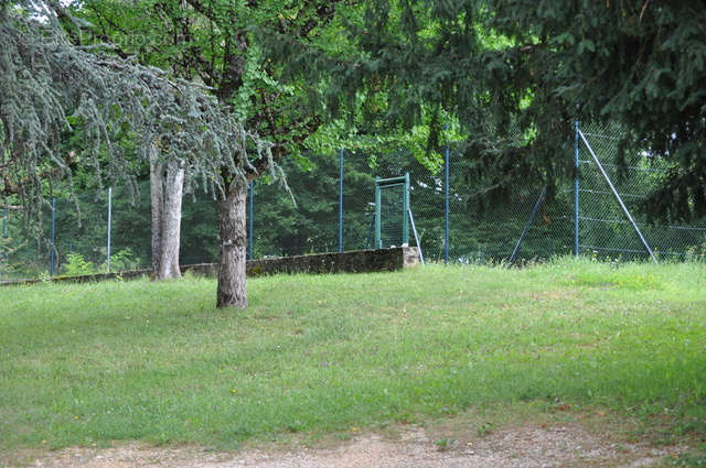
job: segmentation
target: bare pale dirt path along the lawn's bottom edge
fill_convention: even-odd
[[[680,447],[611,443],[575,424],[524,426],[473,440],[434,439],[422,428],[406,428],[394,437],[366,434],[327,448],[287,450],[146,447],[137,444],[108,449],[68,448],[24,454],[22,466],[45,468],[530,468],[530,467],[659,467]],[[28,457],[30,459],[28,459]]]

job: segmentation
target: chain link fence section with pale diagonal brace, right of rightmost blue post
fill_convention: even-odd
[[[650,254],[590,150],[602,165],[648,244],[659,258],[685,260],[703,255],[706,219],[693,224],[664,226],[648,222],[645,200],[674,164],[648,149],[629,149],[622,156],[619,126],[582,126],[588,144],[579,144],[579,251],[600,258],[645,260]],[[590,150],[589,150],[590,148]],[[622,157],[622,160],[621,160]]]

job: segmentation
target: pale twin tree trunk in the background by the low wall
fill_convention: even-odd
[[[179,244],[184,173],[183,161],[169,161],[163,164],[157,160],[156,153],[150,157],[152,271],[157,280],[181,277]]]

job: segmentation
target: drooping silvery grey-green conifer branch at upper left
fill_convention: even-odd
[[[136,162],[115,142],[130,131],[146,161],[183,161],[188,181],[223,193],[234,177],[275,171],[271,144],[248,132],[210,90],[163,70],[73,45],[51,2],[0,2],[0,192],[39,206],[42,181],[94,167],[98,184],[136,187]],[[58,12],[58,13],[57,13]],[[85,150],[62,154],[63,134],[82,127]],[[107,157],[106,157],[107,154]]]

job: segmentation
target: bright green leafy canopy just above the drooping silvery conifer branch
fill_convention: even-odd
[[[319,128],[321,107],[314,99],[319,90],[287,76],[258,36],[281,33],[321,43],[325,35],[330,41],[335,35],[327,29],[335,7],[335,2],[280,0],[141,0],[129,6],[88,0],[74,4],[73,11],[93,24],[86,29],[92,41],[109,41],[119,54],[204,83],[236,120],[277,143],[279,159],[299,152]]]

